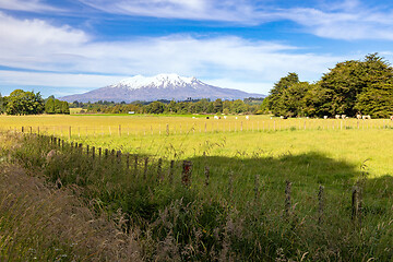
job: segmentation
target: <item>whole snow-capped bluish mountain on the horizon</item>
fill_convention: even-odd
[[[238,90],[222,88],[203,83],[195,78],[183,78],[177,74],[158,74],[146,78],[135,75],[117,84],[94,90],[80,95],[70,95],[60,99],[67,102],[133,102],[175,99],[186,100],[196,98],[243,99],[247,97],[264,97],[260,94],[249,94]]]

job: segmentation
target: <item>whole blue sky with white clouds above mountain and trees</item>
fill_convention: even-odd
[[[0,0],[0,93],[84,93],[177,73],[269,94],[287,72],[393,61],[393,2],[360,0]]]

